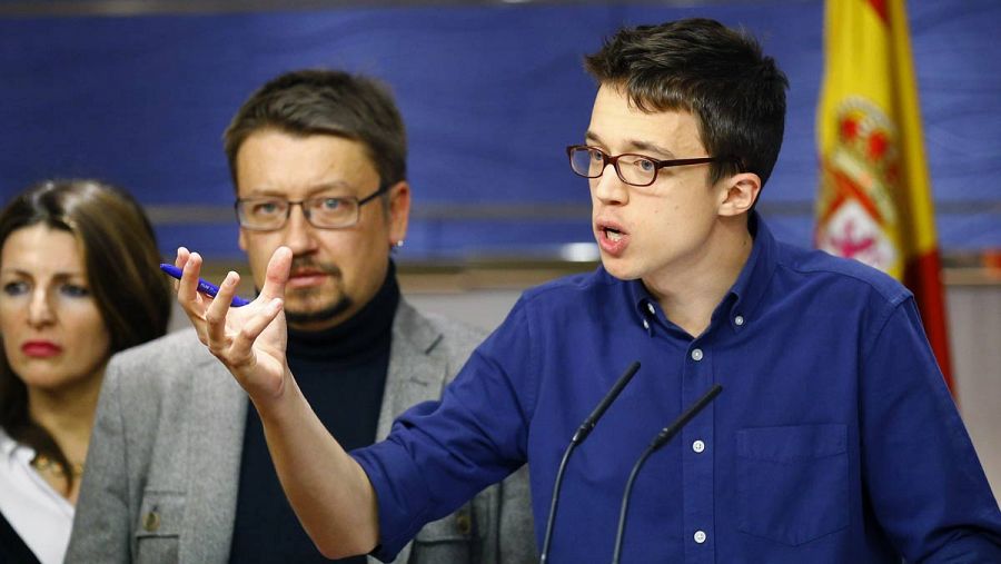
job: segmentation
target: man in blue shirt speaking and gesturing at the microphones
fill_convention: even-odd
[[[781,146],[784,75],[710,20],[624,29],[587,59],[595,273],[526,291],[440,402],[350,454],[284,357],[279,249],[252,306],[178,297],[260,412],[293,506],[327,555],[392,558],[422,524],[526,462],[536,535],[568,438],[642,368],[567,464],[551,558],[613,554],[628,473],[713,384],[725,392],[638,475],[627,562],[1001,562],[1001,513],[911,294],[776,241],[753,211]],[[275,321],[277,319],[277,321]]]

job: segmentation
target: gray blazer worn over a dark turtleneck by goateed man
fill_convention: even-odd
[[[406,408],[438,398],[482,337],[479,329],[423,315],[400,299],[378,436]],[[66,562],[227,562],[248,404],[194,329],[116,355],[105,375]],[[396,562],[537,560],[522,468],[429,523]]]

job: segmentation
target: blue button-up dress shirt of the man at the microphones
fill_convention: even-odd
[[[1001,513],[912,295],[852,260],[752,254],[693,338],[638,280],[604,269],[526,291],[443,399],[353,452],[392,557],[529,462],[537,541],[571,436],[642,367],[569,458],[551,561],[609,562],[628,473],[714,383],[716,400],[645,464],[622,562],[1001,562]]]

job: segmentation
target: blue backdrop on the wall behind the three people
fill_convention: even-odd
[[[925,147],[947,250],[1001,247],[1001,2],[911,2]],[[353,8],[0,19],[0,196],[92,176],[153,214],[165,254],[238,257],[221,132],[286,70],[375,76],[408,125],[415,209],[402,258],[548,255],[592,241],[579,142],[595,87],[582,55],[622,24],[742,26],[789,75],[789,120],[762,211],[810,245],[823,4],[762,1]]]

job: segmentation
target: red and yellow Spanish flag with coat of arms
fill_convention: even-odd
[[[903,0],[826,0],[815,244],[906,285],[952,387],[945,306]]]

